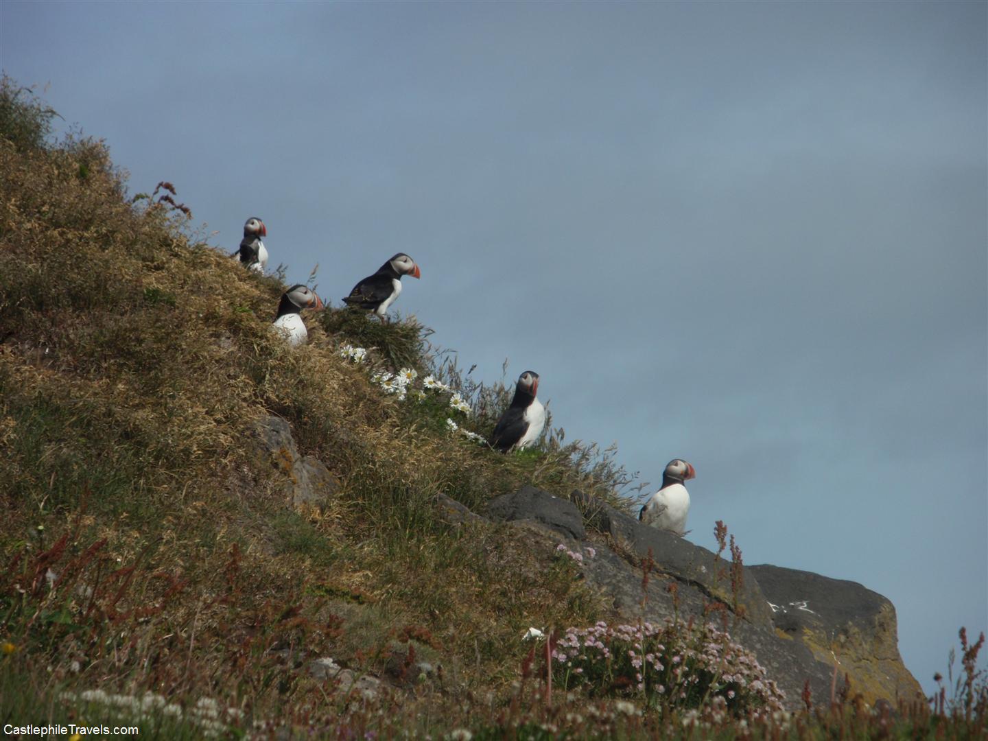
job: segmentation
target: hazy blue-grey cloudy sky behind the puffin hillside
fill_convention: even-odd
[[[888,597],[929,692],[988,628],[986,10],[3,0],[0,61],[334,304],[409,253],[392,310]]]

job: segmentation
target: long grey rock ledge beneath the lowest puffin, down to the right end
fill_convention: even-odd
[[[807,682],[814,702],[830,700],[835,675],[829,650],[834,641],[842,646],[838,688],[847,673],[852,694],[861,692],[866,701],[911,699],[919,692],[919,684],[899,658],[894,610],[880,595],[852,582],[775,566],[732,570],[730,562],[717,554],[678,535],[643,526],[593,497],[575,491],[571,499],[527,486],[492,500],[487,514],[530,530],[541,529],[542,539],[548,542],[562,537],[584,552],[592,545],[596,555],[584,559],[583,575],[612,604],[614,619],[700,618],[719,603],[722,617],[711,619],[722,619],[731,637],[755,653],[791,708],[801,706]],[[582,514],[580,527],[574,513]],[[592,532],[588,535],[585,528]],[[648,559],[649,578],[643,579]],[[819,591],[805,588],[809,583]],[[791,611],[781,613],[780,608],[788,605],[789,595],[794,595],[791,602],[825,598],[830,606],[826,619],[817,622],[799,615],[796,618],[802,622],[785,621]]]

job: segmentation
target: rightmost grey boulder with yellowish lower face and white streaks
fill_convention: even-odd
[[[895,608],[857,582],[780,566],[751,566],[784,634],[836,666],[866,702],[912,700],[923,689],[899,655]]]

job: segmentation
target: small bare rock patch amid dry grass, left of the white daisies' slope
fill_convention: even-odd
[[[283,474],[286,498],[293,507],[320,507],[340,488],[340,480],[314,455],[299,455],[291,426],[267,415],[254,424],[251,442],[257,453]]]

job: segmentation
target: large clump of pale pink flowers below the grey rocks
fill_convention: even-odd
[[[709,624],[570,627],[552,657],[567,687],[582,686],[591,695],[637,693],[682,707],[719,698],[739,710],[776,709],[784,698],[753,654]]]

